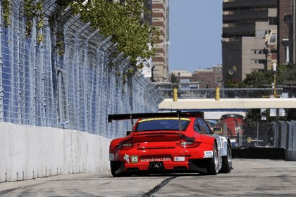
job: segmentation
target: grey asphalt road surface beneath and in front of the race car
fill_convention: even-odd
[[[228,174],[63,174],[0,184],[0,196],[296,196],[296,162],[234,159]]]

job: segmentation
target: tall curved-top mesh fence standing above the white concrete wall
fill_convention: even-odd
[[[11,1],[8,27],[1,5],[0,11],[1,122],[66,127],[113,138],[130,125],[108,124],[108,114],[158,110],[163,100],[159,88],[140,73],[124,82],[128,58],[116,50],[111,37],[71,15],[69,8],[45,1],[44,27],[39,29],[34,18],[29,34],[24,1]]]

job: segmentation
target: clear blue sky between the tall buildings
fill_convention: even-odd
[[[169,71],[222,63],[222,0],[169,1]]]

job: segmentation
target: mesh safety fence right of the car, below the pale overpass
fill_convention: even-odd
[[[296,121],[251,122],[240,117],[208,120],[211,127],[221,127],[233,147],[285,148],[296,151]]]

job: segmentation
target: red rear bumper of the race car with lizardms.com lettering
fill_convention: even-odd
[[[110,160],[121,163],[121,172],[145,171],[195,171],[205,172],[212,157],[211,146],[199,148],[176,147],[171,150],[120,150],[110,155]]]

